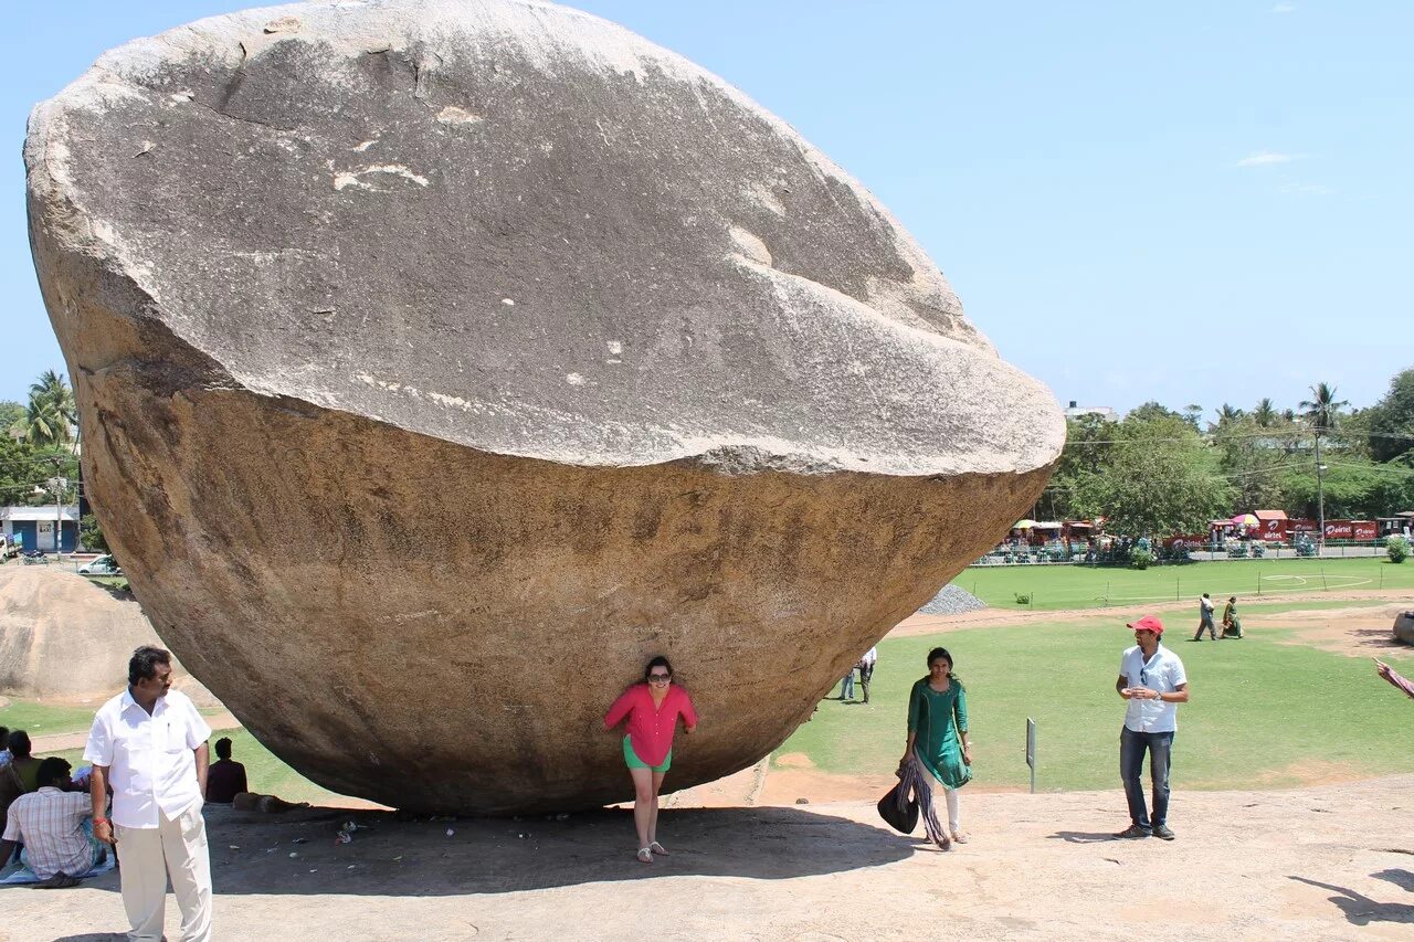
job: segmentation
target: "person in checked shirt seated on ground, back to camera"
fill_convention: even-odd
[[[58,755],[40,762],[40,791],[21,795],[10,805],[10,818],[0,839],[0,860],[8,860],[23,843],[30,870],[51,885],[74,885],[103,861],[105,849],[83,833],[93,802],[69,786],[69,764]]]

